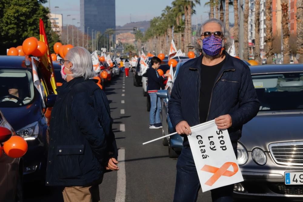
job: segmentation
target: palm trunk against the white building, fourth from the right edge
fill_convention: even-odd
[[[255,61],[260,61],[260,0],[255,1]]]

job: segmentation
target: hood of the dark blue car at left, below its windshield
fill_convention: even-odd
[[[42,116],[42,108],[39,101],[34,101],[32,104],[21,107],[2,107],[0,110],[16,132],[28,124],[38,121]]]

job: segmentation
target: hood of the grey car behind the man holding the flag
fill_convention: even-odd
[[[303,112],[260,112],[242,129],[240,142],[248,151],[259,147],[269,151],[276,142],[302,141]]]

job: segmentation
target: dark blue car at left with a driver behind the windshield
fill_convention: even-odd
[[[0,110],[16,134],[28,143],[28,151],[22,157],[24,182],[43,182],[48,153],[45,113],[56,96],[46,79],[48,72],[39,67],[38,60],[34,60],[38,74],[34,83],[30,61],[25,62],[24,56],[0,56]],[[37,81],[41,83],[39,87]]]

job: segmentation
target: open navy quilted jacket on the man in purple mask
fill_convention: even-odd
[[[225,51],[224,51],[225,52]],[[223,64],[212,89],[207,121],[229,114],[232,126],[228,129],[231,141],[241,137],[242,125],[255,117],[259,111],[259,100],[251,79],[249,67],[240,59],[225,52]],[[174,82],[168,113],[173,128],[182,121],[189,126],[200,124],[199,97],[201,86],[201,62],[203,55],[183,64]],[[188,146],[187,136],[183,145]]]

